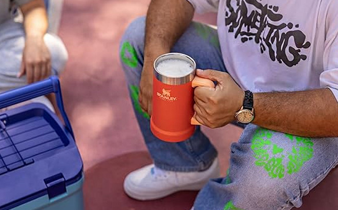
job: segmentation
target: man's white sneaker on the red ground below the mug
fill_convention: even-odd
[[[130,173],[124,179],[124,192],[137,200],[154,200],[178,191],[197,191],[209,179],[220,176],[220,167],[216,158],[213,164],[203,172],[171,172],[146,165]]]

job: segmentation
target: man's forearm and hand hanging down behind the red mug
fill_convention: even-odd
[[[144,65],[140,81],[139,101],[151,114],[153,62],[170,52],[194,16],[193,6],[185,0],[152,0],[147,11],[144,45]]]

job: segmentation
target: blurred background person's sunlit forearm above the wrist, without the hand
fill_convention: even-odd
[[[26,37],[43,37],[48,29],[48,19],[43,0],[33,0],[20,9],[24,14]]]

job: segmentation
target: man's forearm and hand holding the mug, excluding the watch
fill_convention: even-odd
[[[195,89],[196,119],[210,128],[235,120],[244,92],[227,74],[214,70],[197,75],[217,81],[216,88]],[[255,119],[260,127],[305,137],[338,137],[338,103],[329,89],[255,93]]]

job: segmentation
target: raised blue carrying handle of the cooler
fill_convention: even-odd
[[[62,118],[64,118],[66,129],[74,138],[74,133],[64,108],[64,102],[62,101],[60,82],[57,76],[51,76],[45,80],[32,83],[31,85],[16,88],[0,94],[0,109],[50,93],[55,94],[57,107],[62,115]]]

